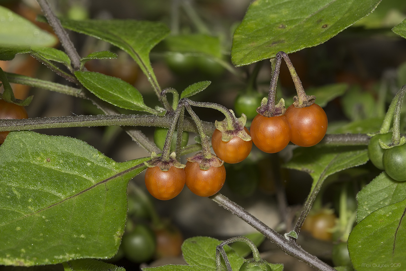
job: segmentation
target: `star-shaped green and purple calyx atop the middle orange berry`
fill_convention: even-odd
[[[216,129],[221,132],[222,141],[230,141],[233,137],[238,136],[244,141],[250,141],[251,136],[245,131],[245,124],[247,122],[247,117],[245,114],[241,114],[240,118],[236,118],[233,110],[230,109],[231,114],[234,117],[234,122],[231,122],[225,118],[222,121],[217,121],[214,123]],[[230,127],[231,126],[231,127]]]

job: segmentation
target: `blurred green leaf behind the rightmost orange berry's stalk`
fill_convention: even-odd
[[[322,87],[312,87],[306,90],[307,95],[314,95],[317,97],[316,103],[321,107],[325,107],[328,102],[333,101],[335,98],[343,95],[348,88],[347,84],[331,84]],[[285,99],[285,106],[288,107],[293,103],[293,97]]]

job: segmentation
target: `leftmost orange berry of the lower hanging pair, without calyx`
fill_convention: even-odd
[[[173,199],[185,186],[185,171],[175,166],[171,166],[168,171],[162,171],[158,166],[147,168],[145,186],[157,199]]]

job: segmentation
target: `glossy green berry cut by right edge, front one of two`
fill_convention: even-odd
[[[382,163],[389,177],[396,181],[406,181],[406,144],[384,150]]]

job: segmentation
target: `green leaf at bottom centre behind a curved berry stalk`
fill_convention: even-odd
[[[196,236],[188,238],[182,245],[183,258],[190,265],[197,265],[207,271],[216,271],[216,246],[222,241],[211,238]],[[231,268],[240,269],[244,259],[239,256],[231,247],[224,246]],[[225,265],[223,270],[227,270]]]

